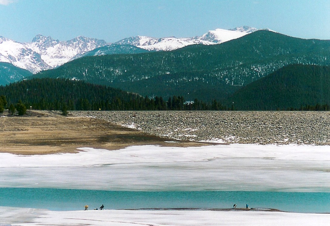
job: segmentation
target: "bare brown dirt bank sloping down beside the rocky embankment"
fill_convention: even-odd
[[[173,141],[93,117],[65,117],[56,112],[28,111],[26,116],[0,116],[0,152],[21,155],[75,152],[79,147],[116,150],[130,145],[201,146]]]

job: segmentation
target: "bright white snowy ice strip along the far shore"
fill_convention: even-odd
[[[13,155],[0,153],[0,167],[100,166],[122,163],[183,163],[225,158],[330,161],[330,146],[230,144],[203,147],[130,146],[109,151],[80,148],[79,153]]]

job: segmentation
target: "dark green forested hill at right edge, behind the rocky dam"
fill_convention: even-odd
[[[288,65],[235,92],[238,110],[329,110],[330,66]]]

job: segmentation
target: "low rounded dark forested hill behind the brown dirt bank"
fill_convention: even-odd
[[[60,110],[64,103],[68,110],[122,110],[144,98],[115,88],[66,79],[32,79],[0,87],[7,102],[21,100],[28,108]]]

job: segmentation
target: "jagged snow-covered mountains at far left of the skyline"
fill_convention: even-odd
[[[104,46],[104,40],[79,36],[59,41],[37,35],[29,43],[20,43],[0,36],[0,62],[8,62],[33,73],[70,61],[76,55]]]

